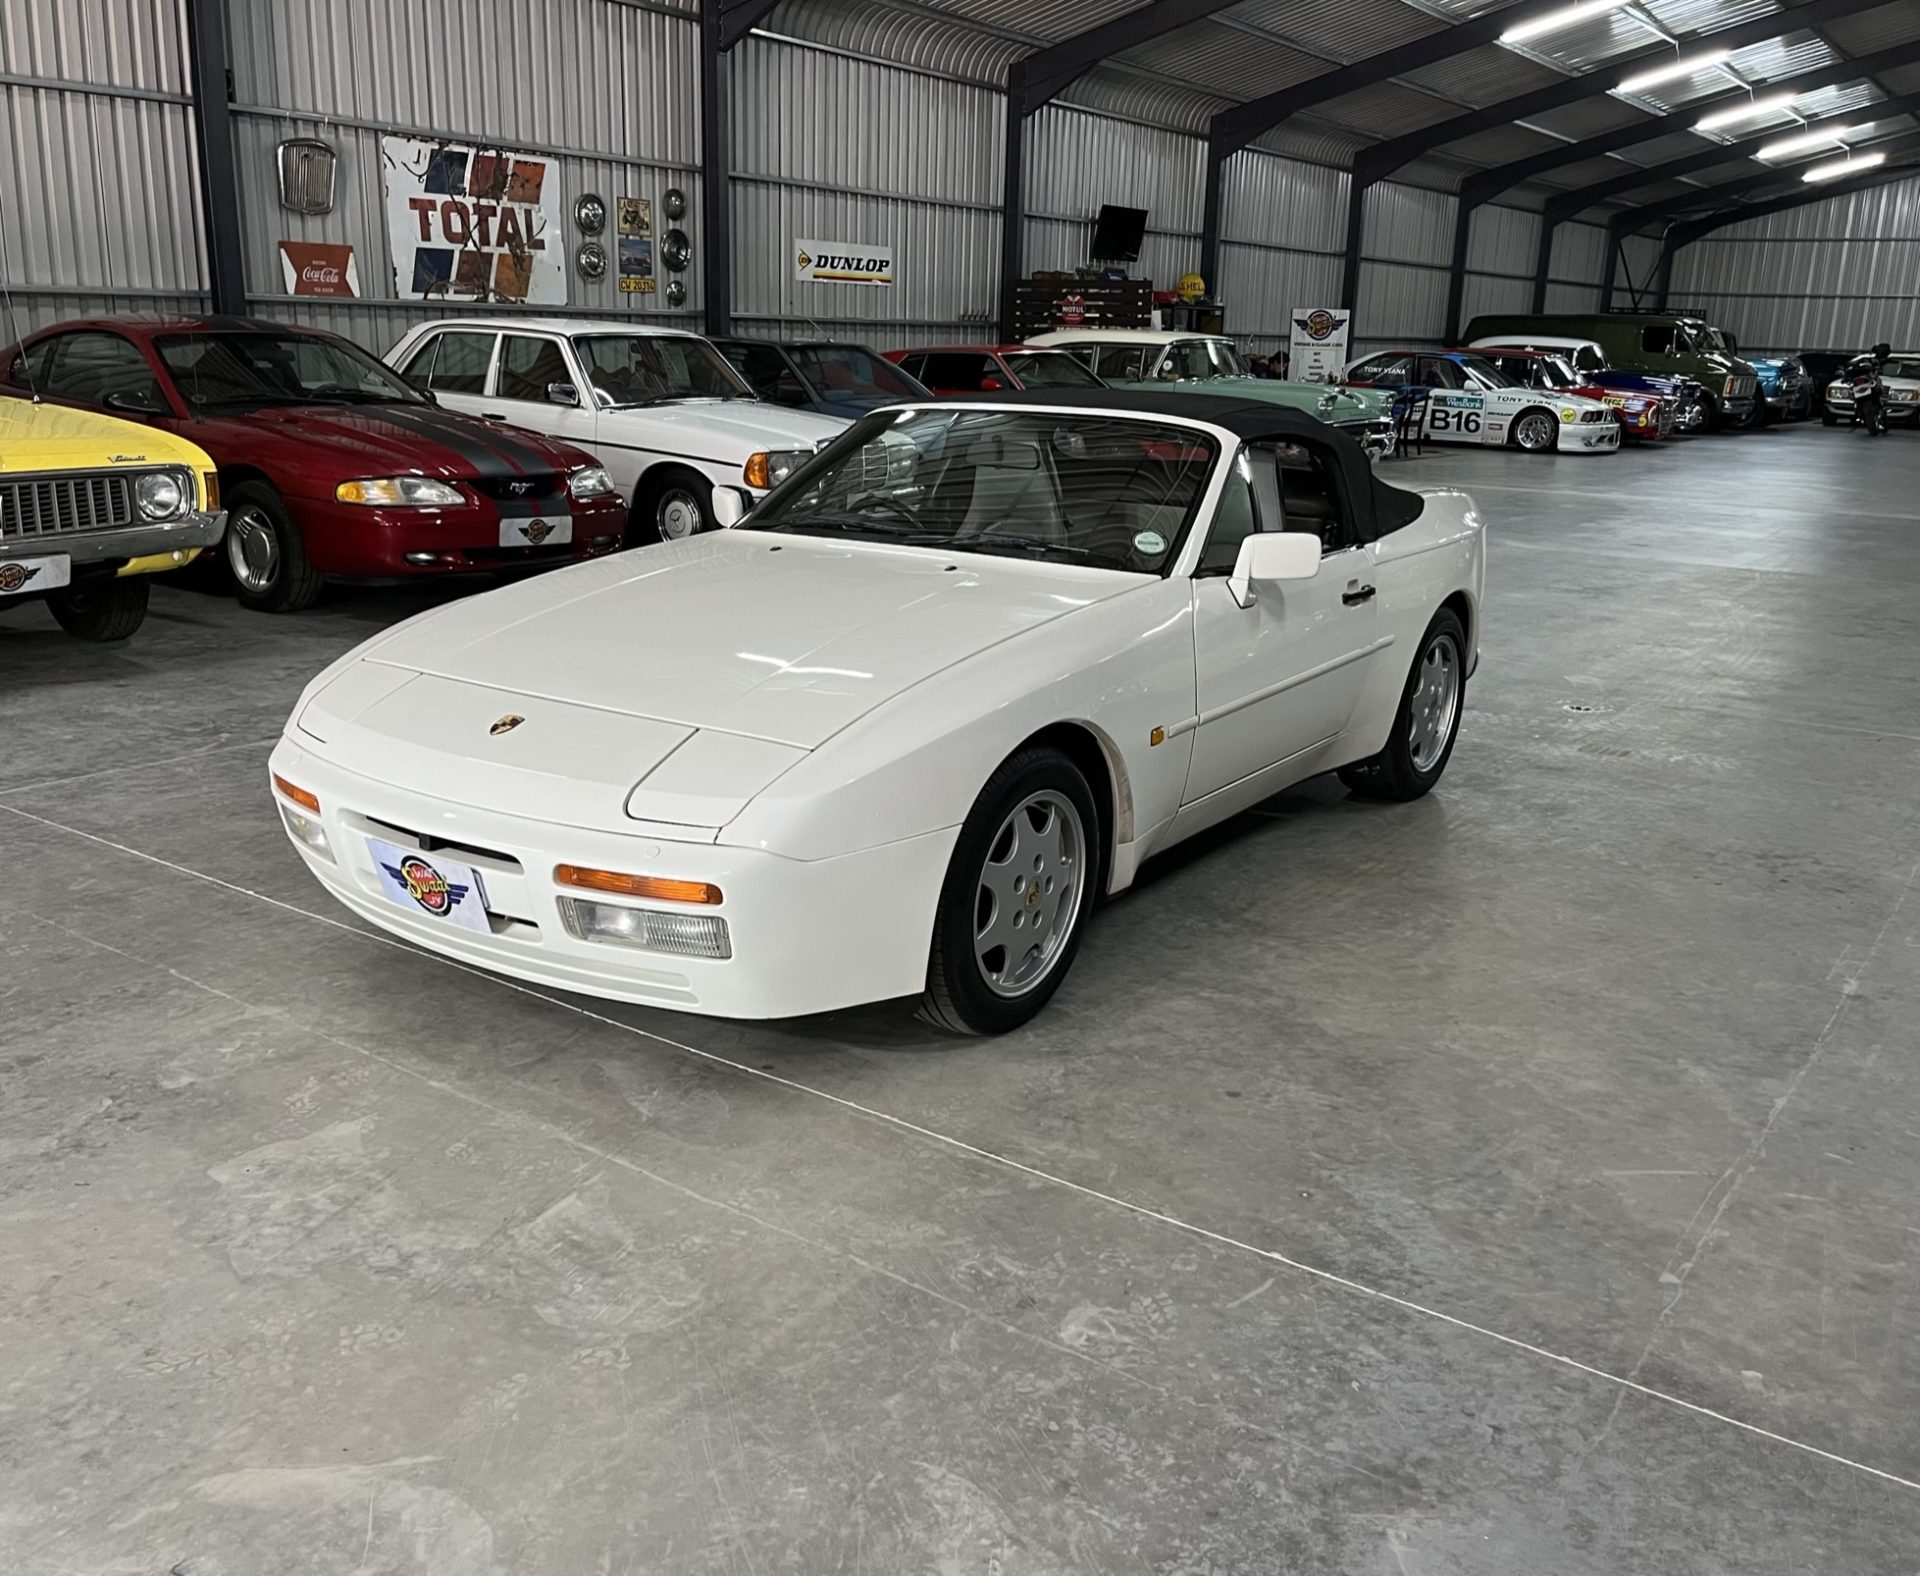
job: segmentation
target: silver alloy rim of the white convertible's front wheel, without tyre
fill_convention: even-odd
[[[1060,962],[1083,904],[1087,829],[1062,793],[1027,795],[987,845],[973,956],[996,996],[1025,996]]]

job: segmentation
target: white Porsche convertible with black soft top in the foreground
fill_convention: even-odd
[[[891,407],[714,509],[309,683],[271,791],[319,881],[541,985],[996,1033],[1150,854],[1317,772],[1427,793],[1478,651],[1473,499],[1265,401]]]

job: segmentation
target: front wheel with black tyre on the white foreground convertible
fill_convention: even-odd
[[[1004,1035],[1060,989],[1102,879],[1104,835],[1085,774],[1023,749],[987,779],[947,866],[920,1015]]]

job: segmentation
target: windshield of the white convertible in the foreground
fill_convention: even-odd
[[[1164,574],[1217,445],[1160,420],[1046,411],[881,411],[747,520],[945,553]]]

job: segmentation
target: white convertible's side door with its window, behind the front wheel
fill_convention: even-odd
[[[1194,687],[1198,737],[1188,804],[1213,795],[1240,802],[1273,793],[1288,772],[1338,737],[1359,703],[1375,651],[1379,609],[1373,559],[1352,530],[1338,466],[1319,443],[1250,443],[1233,463],[1194,570]],[[1256,530],[1321,537],[1311,580],[1254,587],[1240,607],[1227,585],[1240,541]]]

